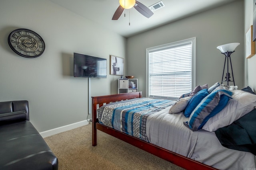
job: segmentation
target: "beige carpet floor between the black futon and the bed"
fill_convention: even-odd
[[[115,137],[97,131],[92,147],[92,124],[44,138],[59,161],[59,170],[183,170]]]

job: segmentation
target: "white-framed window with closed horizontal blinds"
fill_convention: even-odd
[[[147,96],[177,100],[195,84],[196,38],[146,49]]]

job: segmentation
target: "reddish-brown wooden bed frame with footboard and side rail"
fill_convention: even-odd
[[[133,93],[124,93],[124,94],[114,94],[108,96],[96,96],[92,97],[92,146],[97,145],[97,129],[103,131],[113,137],[116,137],[122,141],[125,141],[135,147],[138,147],[146,152],[154,154],[164,160],[167,160],[173,164],[176,164],[182,168],[187,170],[216,170],[211,166],[202,164],[201,162],[192,160],[180,154],[176,154],[169,150],[163,149],[156,145],[152,145],[120,131],[116,131],[110,127],[104,126],[98,123],[97,119],[97,108],[103,106],[104,104],[108,104],[111,102],[118,102],[122,100],[128,100],[133,98],[141,98],[142,92],[133,92]],[[97,107],[98,105],[98,107]]]

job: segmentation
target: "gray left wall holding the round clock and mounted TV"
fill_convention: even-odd
[[[46,43],[38,58],[20,57],[7,38],[31,29]],[[117,93],[119,76],[109,74],[109,55],[125,58],[126,38],[107,31],[48,0],[0,1],[0,101],[28,100],[39,132],[87,119],[88,79],[74,78],[73,53],[107,59],[107,78],[91,78],[91,95]]]

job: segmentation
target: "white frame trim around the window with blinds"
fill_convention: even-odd
[[[159,45],[156,47],[150,47],[146,49],[146,97],[149,97],[149,52],[156,50],[156,49],[164,49],[164,48],[168,48],[170,46],[176,46],[176,45],[180,45],[180,44],[184,44],[184,43],[192,43],[192,89],[195,87],[196,85],[196,37],[190,38],[190,39],[185,39],[185,40],[181,40],[181,41],[176,41],[173,43],[168,43],[168,44],[164,44],[164,45]],[[191,90],[192,90],[191,89]],[[152,97],[151,97],[152,98]],[[177,100],[178,98],[169,98],[171,100]]]

